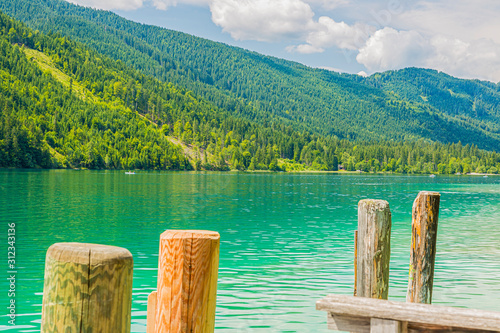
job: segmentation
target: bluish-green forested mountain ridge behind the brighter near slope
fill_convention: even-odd
[[[3,0],[0,9],[264,126],[349,140],[500,147],[498,84],[423,69],[369,78],[312,69],[62,0]]]

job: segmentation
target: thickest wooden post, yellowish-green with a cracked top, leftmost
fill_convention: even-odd
[[[41,332],[130,332],[132,267],[124,248],[52,245],[45,261]]]

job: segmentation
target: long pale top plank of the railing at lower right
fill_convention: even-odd
[[[351,317],[381,318],[454,328],[500,331],[500,312],[453,308],[430,304],[328,295],[316,309]]]

